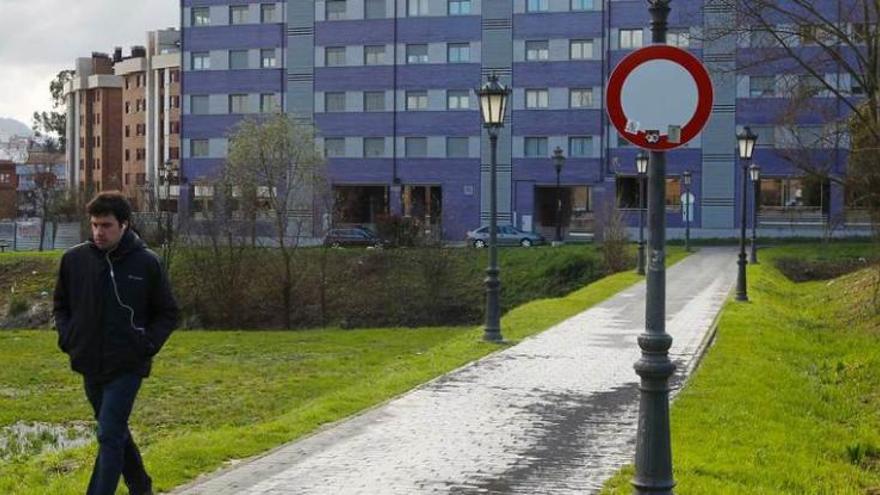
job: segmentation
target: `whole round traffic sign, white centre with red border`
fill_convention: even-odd
[[[669,45],[626,56],[608,80],[606,106],[617,132],[649,150],[692,140],[712,113],[712,80],[700,60]]]

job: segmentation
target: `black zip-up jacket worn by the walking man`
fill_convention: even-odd
[[[134,311],[134,324],[120,300]],[[70,367],[109,380],[122,372],[150,374],[152,357],[177,326],[178,309],[159,257],[126,229],[115,249],[105,252],[89,241],[64,253],[54,314]]]

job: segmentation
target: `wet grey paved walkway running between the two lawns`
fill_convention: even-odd
[[[736,275],[704,248],[667,271],[674,385]],[[644,283],[382,407],[181,494],[584,494],[632,462]]]

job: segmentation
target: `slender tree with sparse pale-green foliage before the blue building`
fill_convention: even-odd
[[[314,189],[323,179],[324,159],[314,130],[286,114],[245,119],[230,136],[225,180],[264,199],[274,227],[284,275],[281,287],[284,325],[291,327],[293,249],[301,237],[315,235],[311,213]]]

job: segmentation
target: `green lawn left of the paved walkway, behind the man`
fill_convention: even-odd
[[[684,257],[670,251],[673,263]],[[518,341],[640,280],[632,272],[502,319]],[[498,349],[478,327],[176,333],[145,382],[131,424],[155,487],[168,490],[399,395]],[[90,417],[52,332],[0,332],[0,428]],[[2,432],[3,430],[0,430]],[[2,436],[2,435],[0,435]],[[3,459],[0,493],[81,494],[94,444]]]

